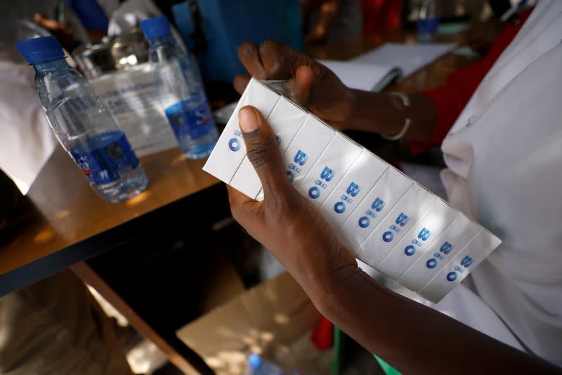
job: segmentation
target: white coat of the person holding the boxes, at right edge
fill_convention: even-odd
[[[443,141],[451,204],[503,243],[436,306],[558,366],[561,40],[562,1],[540,1]]]

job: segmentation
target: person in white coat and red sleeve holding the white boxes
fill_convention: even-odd
[[[525,16],[486,58],[407,102],[351,90],[275,41],[240,46],[252,76],[288,79],[301,105],[339,129],[400,134],[412,150],[440,144],[450,204],[502,239],[437,305],[385,289],[289,183],[266,119],[240,110],[265,198],[229,186],[234,218],[322,315],[404,374],[562,373],[562,2],[542,0]],[[237,77],[237,91],[248,81]]]

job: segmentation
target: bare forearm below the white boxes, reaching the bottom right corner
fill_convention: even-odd
[[[549,373],[558,368],[347,267],[311,295],[320,313],[403,374]]]

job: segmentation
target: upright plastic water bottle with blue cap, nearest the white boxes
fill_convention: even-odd
[[[199,159],[211,153],[218,139],[195,58],[176,43],[166,17],[141,21],[150,43],[150,62],[162,84],[164,112],[185,157]]]

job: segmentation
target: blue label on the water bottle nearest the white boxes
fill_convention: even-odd
[[[167,107],[165,112],[178,139],[185,136],[190,139],[202,138],[215,126],[211,109],[205,101],[195,104],[190,100],[183,100]]]

